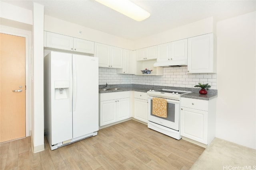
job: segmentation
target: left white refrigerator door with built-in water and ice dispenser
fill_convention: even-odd
[[[52,145],[72,139],[72,54],[51,52]]]

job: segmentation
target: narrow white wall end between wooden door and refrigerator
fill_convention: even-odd
[[[44,150],[44,6],[34,3],[34,94],[32,107],[32,150]]]

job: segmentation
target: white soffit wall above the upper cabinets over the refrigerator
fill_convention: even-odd
[[[124,49],[132,49],[134,44],[133,41],[128,39],[120,38],[108,33],[90,29],[88,27],[83,27],[81,25],[70,23],[50,16],[44,16],[44,30],[98,43],[108,44],[115,47],[121,47]],[[82,33],[79,33],[79,31],[82,31]]]

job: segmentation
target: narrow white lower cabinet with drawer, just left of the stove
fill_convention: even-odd
[[[134,92],[134,118],[148,123],[148,95],[145,92]]]

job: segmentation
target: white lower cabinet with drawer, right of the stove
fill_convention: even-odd
[[[209,145],[215,137],[216,98],[181,98],[181,136]]]

